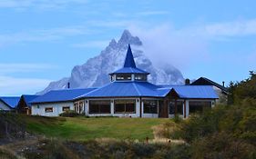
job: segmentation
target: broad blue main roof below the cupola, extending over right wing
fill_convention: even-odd
[[[113,82],[77,98],[134,96],[165,97],[169,94],[171,89],[179,95],[179,98],[218,98],[218,95],[213,88],[208,85],[172,85],[163,87],[148,82]]]

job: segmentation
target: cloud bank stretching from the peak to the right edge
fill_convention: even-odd
[[[210,62],[211,41],[230,41],[236,37],[256,35],[256,19],[200,24],[184,28],[175,28],[170,24],[149,28],[147,26],[147,24],[146,26],[130,25],[128,29],[133,35],[138,35],[146,55],[154,63],[158,65],[168,63],[179,69],[186,69],[189,65],[200,62]],[[250,55],[248,61],[254,57],[254,54]]]

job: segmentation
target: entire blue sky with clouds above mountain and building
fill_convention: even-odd
[[[256,70],[254,0],[0,0],[0,95],[69,76],[124,29],[185,78],[240,81]],[[162,57],[162,58],[159,58]]]

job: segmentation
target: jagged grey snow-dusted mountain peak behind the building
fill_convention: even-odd
[[[153,84],[183,84],[184,78],[177,68],[169,64],[166,64],[164,68],[153,65],[147,55],[143,53],[143,45],[138,36],[133,36],[128,30],[124,30],[118,42],[112,39],[100,55],[88,59],[84,65],[76,65],[70,77],[50,83],[44,91],[37,94],[67,88],[68,82],[71,88],[97,87],[108,84],[108,74],[124,65],[128,44],[131,45],[137,67],[150,73],[149,82]]]

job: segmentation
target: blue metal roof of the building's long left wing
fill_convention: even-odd
[[[36,97],[30,103],[36,104],[72,101],[77,96],[87,94],[88,92],[93,91],[95,89],[96,88],[53,90],[46,94]]]

